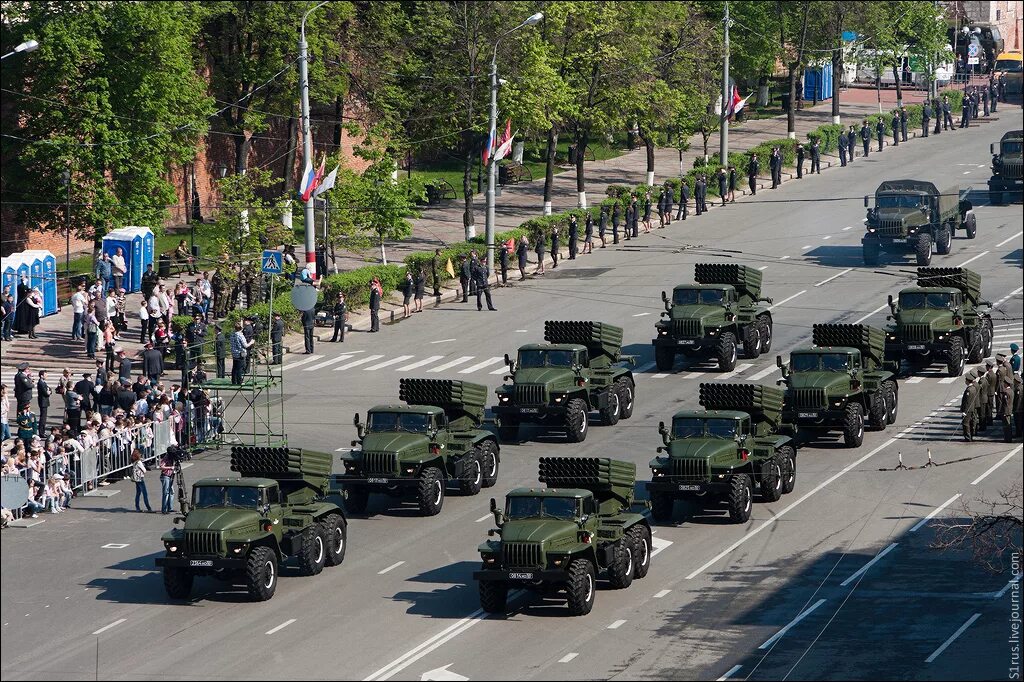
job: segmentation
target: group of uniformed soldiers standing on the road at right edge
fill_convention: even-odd
[[[967,388],[961,398],[961,419],[964,439],[974,440],[975,436],[988,430],[997,420],[1002,425],[1002,439],[1011,442],[1015,432],[1021,437],[1024,429],[1024,376],[1014,372],[1004,353],[995,356],[995,361],[985,360],[985,367],[978,367],[964,375]]]

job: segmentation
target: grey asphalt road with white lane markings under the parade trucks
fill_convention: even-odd
[[[813,323],[882,325],[886,295],[911,282],[909,256],[862,265],[863,195],[898,177],[984,189],[988,144],[1019,128],[1020,114],[1002,108],[999,121],[872,153],[850,168],[563,261],[496,292],[498,312],[444,304],[374,336],[352,334],[344,346],[318,344],[312,358],[290,356],[290,443],[313,450],[346,446],[352,414],[396,400],[401,376],[493,389],[503,353],[541,340],[547,318],[622,325],[625,352],[640,356],[637,407],[628,422],[595,426],[581,445],[534,433],[503,446],[498,485],[474,498],[453,495],[438,516],[372,500],[369,515],[350,521],[342,566],[311,579],[286,574],[266,603],[205,580],[189,603],[168,603],[153,568],[167,518],[126,513],[128,481],[113,498],[77,501],[88,511],[0,539],[3,678],[1005,678],[1019,583],[932,549],[929,517],[1020,481],[1021,449],[962,442],[963,382],[943,380],[937,367],[902,382],[897,423],[868,432],[860,449],[829,440],[803,449],[796,491],[756,504],[749,523],[729,524],[719,510],[684,515],[680,505],[676,524],[656,526],[648,577],[628,590],[601,590],[588,616],[568,617],[562,604],[524,595],[507,617],[483,617],[471,571],[490,527],[487,493],[536,483],[542,455],[626,459],[644,478],[660,442],[657,422],[695,406],[700,381],[722,379],[710,366],[653,369],[663,289],[691,281],[698,261],[764,268],[774,346],[741,358],[731,379],[771,383],[775,353],[809,343]],[[1024,220],[1020,206],[976,199],[977,239],[961,232],[933,264],[967,263],[983,274],[984,295],[996,303],[996,346],[1006,347],[1024,340]],[[888,470],[898,455],[920,467],[929,452],[949,464]],[[223,457],[210,456],[186,476],[226,469]],[[155,477],[150,488],[159,489]]]

